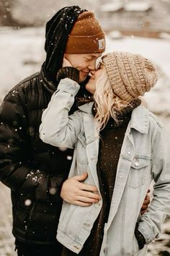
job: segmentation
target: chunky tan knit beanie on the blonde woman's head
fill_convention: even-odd
[[[113,52],[102,57],[115,95],[124,101],[144,95],[158,80],[156,67],[139,54]]]

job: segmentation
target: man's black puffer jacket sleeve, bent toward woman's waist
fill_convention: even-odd
[[[17,193],[32,192],[35,200],[61,201],[64,178],[32,168],[27,107],[21,100],[22,93],[9,93],[1,104],[0,180]]]

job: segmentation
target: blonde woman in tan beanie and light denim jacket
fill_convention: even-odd
[[[96,186],[101,199],[88,208],[63,201],[57,235],[63,255],[146,255],[170,212],[169,138],[140,99],[156,84],[156,69],[137,54],[103,56],[86,84],[94,101],[71,116],[79,72],[66,67],[58,73],[64,77],[71,79],[61,80],[42,114],[40,137],[74,148],[69,177],[87,170],[85,183]],[[153,200],[140,216],[152,180]]]

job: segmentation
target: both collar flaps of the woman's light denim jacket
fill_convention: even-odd
[[[79,106],[81,111],[86,112],[87,114],[92,114],[91,108],[93,106],[93,101],[90,103],[86,103],[84,105]],[[141,115],[141,109],[143,111],[143,115]],[[132,116],[130,119],[130,129],[136,129],[138,132],[143,134],[148,133],[148,126],[149,126],[149,111],[148,108],[143,106],[138,106],[132,112]]]

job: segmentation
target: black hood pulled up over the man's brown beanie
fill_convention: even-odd
[[[46,24],[45,51],[46,60],[42,69],[48,81],[55,82],[56,74],[63,64],[63,54],[66,48],[68,35],[81,12],[86,10],[78,6],[60,9]]]

